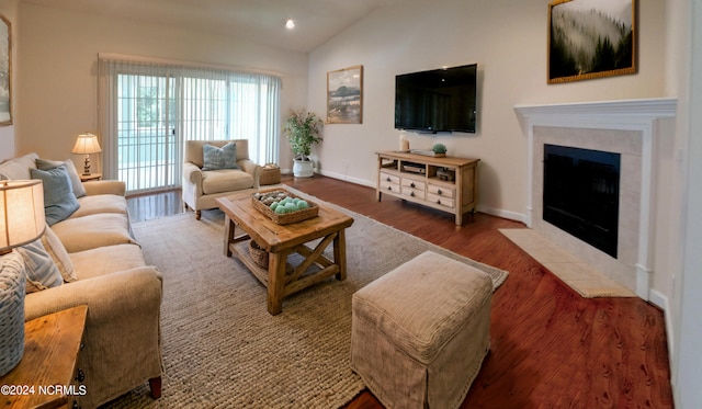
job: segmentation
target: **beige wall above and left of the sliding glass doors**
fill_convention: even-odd
[[[307,55],[214,34],[20,3],[16,154],[65,159],[98,129],[98,53],[249,67],[283,75],[282,110],[304,106]],[[284,160],[290,160],[287,150]],[[79,157],[73,159],[80,160]]]

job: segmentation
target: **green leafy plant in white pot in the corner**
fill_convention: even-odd
[[[293,149],[293,174],[297,178],[309,178],[314,174],[309,159],[312,146],[321,141],[324,123],[314,113],[304,111],[293,112],[283,127],[283,135]]]

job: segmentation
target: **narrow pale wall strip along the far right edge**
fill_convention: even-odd
[[[678,132],[681,168],[682,205],[679,221],[679,246],[676,250],[673,269],[675,294],[670,300],[672,318],[668,332],[672,338],[670,351],[671,375],[676,408],[702,408],[702,388],[700,388],[700,368],[702,368],[702,0],[671,0],[676,14],[671,25],[676,25],[675,36],[677,61],[681,69],[676,70],[678,103]],[[677,180],[673,182],[678,183]]]

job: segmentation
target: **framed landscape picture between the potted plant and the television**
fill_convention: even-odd
[[[327,124],[363,123],[363,66],[327,72]]]

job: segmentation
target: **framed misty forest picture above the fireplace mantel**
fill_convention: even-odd
[[[548,4],[548,83],[636,72],[636,0]]]

